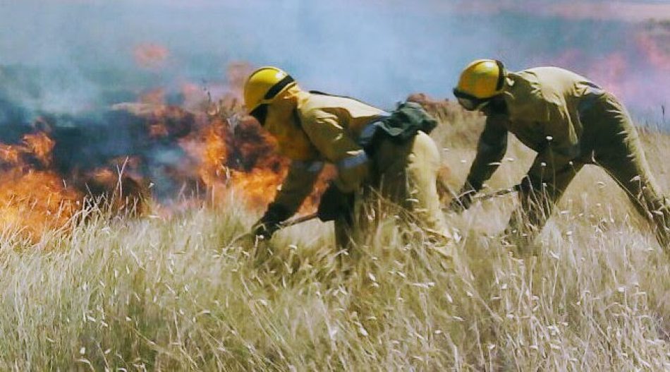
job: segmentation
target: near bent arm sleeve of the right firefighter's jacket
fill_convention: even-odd
[[[536,186],[542,182],[553,184],[556,174],[570,169],[570,162],[579,156],[577,133],[566,106],[547,103],[547,116],[546,143],[528,170],[530,181]]]

